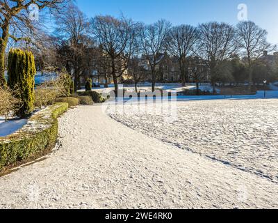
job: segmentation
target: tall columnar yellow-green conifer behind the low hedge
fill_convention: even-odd
[[[18,116],[28,116],[34,109],[35,102],[35,59],[32,52],[11,49],[8,54],[8,86],[19,88],[16,95],[22,102]]]

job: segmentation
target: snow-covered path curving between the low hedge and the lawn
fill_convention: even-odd
[[[278,185],[72,109],[47,160],[0,178],[0,208],[278,208]]]

